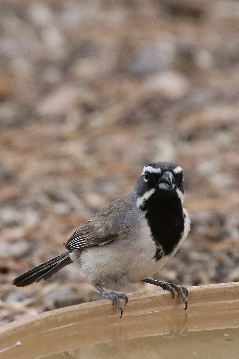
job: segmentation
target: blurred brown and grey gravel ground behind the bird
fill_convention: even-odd
[[[73,264],[10,282],[155,160],[183,167],[192,216],[159,278],[239,280],[239,2],[0,6],[0,322],[100,298]]]

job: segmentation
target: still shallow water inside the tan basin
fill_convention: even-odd
[[[142,337],[114,346],[86,346],[44,359],[238,359],[238,337],[239,328],[188,332],[173,341],[159,336]]]

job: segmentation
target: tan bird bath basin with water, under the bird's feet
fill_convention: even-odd
[[[239,282],[192,287],[188,310],[169,292],[100,300],[0,327],[3,359],[239,358]],[[173,340],[171,340],[173,339]]]

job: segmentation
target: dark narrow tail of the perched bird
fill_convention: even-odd
[[[44,262],[28,272],[19,275],[19,277],[14,279],[13,284],[17,287],[24,287],[25,285],[32,284],[33,282],[38,282],[42,278],[44,280],[48,279],[54,273],[58,272],[58,270],[71,263],[72,260],[69,257],[69,252],[63,253],[60,256]]]

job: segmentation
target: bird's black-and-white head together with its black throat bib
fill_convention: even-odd
[[[135,189],[137,207],[145,213],[156,244],[154,258],[159,261],[172,255],[185,230],[182,168],[170,162],[151,163],[144,167]]]

